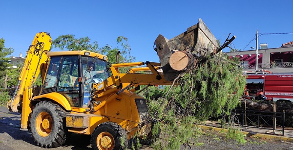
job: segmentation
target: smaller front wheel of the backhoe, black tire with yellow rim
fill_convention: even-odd
[[[104,122],[93,131],[91,144],[94,150],[124,150],[128,145],[126,131],[117,123]]]

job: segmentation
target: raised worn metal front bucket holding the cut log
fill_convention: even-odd
[[[159,35],[155,44],[165,79],[168,81],[174,80],[182,73],[182,71],[172,69],[169,64],[169,58],[175,51],[189,49],[194,55],[205,56],[215,53],[219,47],[216,38],[202,19],[199,19],[197,24],[189,27],[184,33],[170,40]]]

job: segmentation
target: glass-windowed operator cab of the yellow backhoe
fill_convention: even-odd
[[[106,68],[106,61],[98,57],[51,56],[41,94],[57,92],[71,107],[87,108],[92,84],[109,77]]]

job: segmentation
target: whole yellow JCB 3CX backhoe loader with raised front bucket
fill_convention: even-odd
[[[89,51],[50,52],[51,43],[49,33],[36,35],[7,107],[11,112],[21,112],[21,130],[30,129],[40,147],[59,147],[68,133],[74,132],[91,135],[95,150],[125,149],[136,133],[149,140],[152,124],[146,101],[135,93],[140,85],[173,83],[182,72],[169,67],[168,58],[174,49],[188,47],[205,55],[218,47],[201,19],[171,40],[162,35],[156,39],[161,63],[110,64],[107,56]],[[120,73],[121,67],[133,68]],[[161,68],[163,75],[158,72]],[[40,88],[34,86],[39,74]]]

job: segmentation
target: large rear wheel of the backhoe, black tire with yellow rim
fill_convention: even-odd
[[[32,137],[42,148],[56,148],[66,141],[65,112],[50,101],[39,102],[32,112]]]

